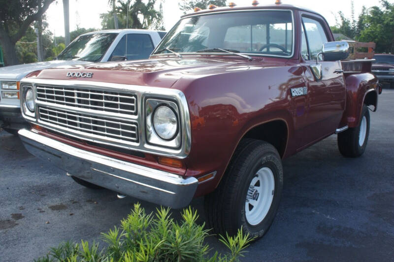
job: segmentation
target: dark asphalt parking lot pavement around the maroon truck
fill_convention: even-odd
[[[361,158],[343,158],[332,135],[284,161],[276,219],[243,261],[394,261],[393,104],[394,90],[384,90]],[[79,186],[0,132],[1,262],[32,261],[63,240],[93,241],[136,201]],[[192,202],[200,221],[202,202]],[[179,211],[173,214],[179,219]],[[214,237],[208,243],[225,251]]]

